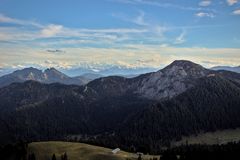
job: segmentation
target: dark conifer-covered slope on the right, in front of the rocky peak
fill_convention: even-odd
[[[182,136],[240,127],[239,100],[239,89],[231,82],[218,78],[202,79],[197,87],[171,100],[136,111],[115,134],[80,141],[159,154],[162,147],[171,147],[171,142],[181,140]]]

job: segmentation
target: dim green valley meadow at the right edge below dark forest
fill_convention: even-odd
[[[172,146],[181,144],[226,144],[240,141],[240,128],[216,132],[202,133],[197,136],[183,137],[181,141],[173,142]]]

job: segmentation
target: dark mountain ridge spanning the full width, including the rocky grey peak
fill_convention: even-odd
[[[27,77],[43,73],[52,75]],[[71,139],[158,153],[182,136],[240,127],[240,74],[190,61],[82,86],[39,82],[0,88],[1,143]]]

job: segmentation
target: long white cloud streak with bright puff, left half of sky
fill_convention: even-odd
[[[66,37],[77,38],[66,40],[71,43],[88,43],[88,42],[115,42],[123,41],[131,38],[130,35],[141,35],[149,32],[147,29],[137,28],[109,28],[109,29],[81,29],[67,28],[61,25],[47,25],[44,28],[28,29],[21,27],[0,27],[0,40],[2,41],[31,41],[34,42],[38,38]],[[61,39],[59,39],[61,40]],[[100,40],[100,41],[99,41]],[[56,40],[58,41],[58,40]],[[63,40],[61,40],[63,41]],[[39,43],[40,44],[40,43]]]

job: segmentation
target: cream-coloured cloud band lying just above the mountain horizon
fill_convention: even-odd
[[[176,59],[192,60],[196,63],[212,61],[219,65],[239,65],[238,48],[199,48],[174,47],[160,45],[123,45],[120,48],[61,48],[63,54],[52,54],[45,50],[29,47],[0,48],[1,61],[11,64],[29,66],[31,64],[45,67],[71,68],[79,64],[119,64],[128,67],[159,67]],[[154,59],[151,61],[150,59]],[[139,63],[141,60],[144,63]]]

